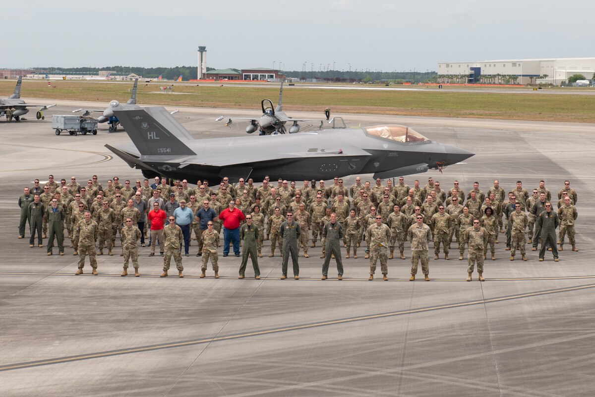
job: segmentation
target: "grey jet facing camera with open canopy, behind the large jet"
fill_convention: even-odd
[[[322,123],[325,120],[309,120],[306,118],[293,118],[289,117],[287,114],[283,112],[283,106],[281,105],[281,98],[283,97],[283,82],[281,82],[281,88],[279,89],[279,103],[277,107],[273,108],[273,102],[270,99],[262,99],[261,107],[262,107],[262,115],[260,117],[229,117],[227,120],[226,126],[229,126],[233,120],[249,120],[250,124],[246,127],[246,132],[251,134],[255,132],[257,129],[259,130],[259,135],[276,135],[276,134],[284,134],[287,132],[285,128],[285,124],[287,121],[292,121],[293,125],[289,127],[289,133],[294,134],[299,131],[300,125],[297,124],[298,121],[306,121],[309,123],[319,123],[319,129],[322,128]],[[226,118],[224,115],[217,118],[215,121],[221,121]]]

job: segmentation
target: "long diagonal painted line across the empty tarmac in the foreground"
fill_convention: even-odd
[[[437,306],[417,308],[417,309],[412,309],[412,310],[400,310],[400,311],[392,311],[392,312],[386,312],[386,313],[362,315],[359,317],[339,318],[336,320],[320,321],[317,323],[297,324],[295,326],[281,327],[281,328],[268,329],[268,330],[256,330],[253,332],[245,332],[245,333],[240,333],[240,334],[236,334],[236,335],[208,337],[208,338],[203,338],[203,339],[194,339],[194,340],[185,340],[185,341],[181,341],[181,342],[164,343],[161,345],[139,346],[137,348],[130,348],[130,349],[120,349],[120,350],[113,350],[113,351],[96,352],[96,353],[90,353],[90,354],[75,355],[75,356],[70,356],[70,357],[58,357],[58,358],[51,358],[48,360],[21,362],[21,363],[17,363],[17,364],[1,365],[0,371],[18,370],[18,369],[23,369],[23,368],[37,367],[40,365],[51,365],[51,364],[61,364],[61,363],[65,363],[65,362],[90,360],[92,358],[112,357],[112,356],[121,355],[121,354],[150,352],[150,351],[156,351],[156,350],[160,350],[160,349],[179,348],[182,346],[201,345],[203,343],[221,342],[221,341],[225,341],[225,340],[234,340],[234,339],[240,339],[240,338],[252,337],[252,336],[271,335],[271,334],[281,333],[281,332],[291,332],[291,331],[297,331],[297,330],[312,329],[312,328],[316,328],[316,327],[332,326],[332,325],[337,325],[337,324],[355,323],[356,321],[375,320],[378,318],[396,317],[396,316],[405,315],[405,314],[417,314],[417,313],[436,311],[436,310],[469,307],[469,306],[474,306],[474,305],[511,301],[513,299],[531,298],[533,296],[550,295],[553,293],[580,291],[580,290],[591,289],[591,288],[595,288],[595,284],[587,284],[587,285],[568,287],[568,288],[550,289],[550,290],[543,290],[543,291],[536,291],[536,292],[519,293],[517,295],[499,296],[497,298],[478,299],[476,301],[458,302],[455,304],[437,305]]]

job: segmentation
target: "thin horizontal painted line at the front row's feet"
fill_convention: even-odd
[[[121,277],[120,273],[99,273],[97,276],[93,276],[90,273],[90,269],[88,270],[89,273],[83,273],[80,276],[76,276],[76,277]],[[40,272],[21,272],[21,271],[0,271],[0,276],[75,276],[74,273],[40,273]],[[143,278],[143,277],[153,277],[153,278],[159,278],[159,274],[140,274],[140,277],[134,277],[133,273],[129,274],[128,276],[126,276],[127,278]],[[171,273],[171,276],[167,277],[168,279],[177,279],[179,278],[177,276],[177,274],[175,273]],[[200,279],[201,277],[199,276],[186,276],[184,275],[184,279]],[[206,276],[203,277],[204,279],[214,279],[214,276]],[[233,277],[233,276],[220,276],[219,277],[222,280],[238,280],[237,277]],[[493,281],[547,281],[547,280],[586,280],[586,279],[595,279],[595,275],[592,276],[552,276],[552,277],[514,277],[514,278],[499,278],[499,279],[488,279],[486,278],[486,282],[493,282]],[[250,276],[246,276],[245,279],[243,279],[242,281],[245,280],[255,280],[255,281],[263,281],[263,280],[278,280],[281,281],[279,279],[279,277],[261,277],[260,280],[256,280],[254,279],[254,277],[250,277]],[[313,278],[313,277],[300,277],[299,279],[300,281],[322,281],[319,278]],[[287,282],[287,283],[291,283],[293,280],[293,277],[288,276],[287,280],[283,280],[283,282]],[[339,280],[337,280],[334,277],[329,277],[327,280],[324,280],[325,283],[327,282],[338,282]],[[342,282],[369,282],[369,280],[367,278],[365,279],[356,279],[356,278],[344,278],[342,280]],[[409,282],[409,278],[406,279],[389,279],[389,282]],[[431,281],[433,282],[464,282],[466,281],[465,279],[431,279]],[[384,282],[383,279],[378,278],[378,279],[374,279],[373,282]],[[424,279],[418,279],[415,282],[417,283],[421,283],[421,282],[425,282]],[[477,276],[475,276],[473,282],[477,282]]]

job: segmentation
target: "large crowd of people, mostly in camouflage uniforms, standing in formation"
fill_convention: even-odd
[[[525,246],[530,245],[532,251],[539,250],[539,261],[545,260],[546,252],[552,252],[553,260],[558,262],[559,252],[565,250],[566,235],[570,251],[578,251],[574,228],[577,192],[569,180],[564,181],[557,198],[544,180],[532,190],[525,189],[521,180],[511,190],[494,180],[485,193],[478,182],[465,192],[457,180],[443,190],[432,177],[425,186],[414,180],[410,187],[403,177],[394,185],[391,179],[374,182],[373,186],[369,181],[362,183],[358,176],[354,185],[346,187],[336,177],[330,186],[324,180],[304,180],[303,186],[296,186],[280,178],[273,186],[265,177],[256,186],[252,179],[240,179],[233,185],[223,177],[213,189],[208,180],[196,181],[196,187],[189,186],[187,180],[159,177],[154,181],[125,180],[121,184],[115,176],[104,187],[96,175],[82,184],[76,176],[70,178],[70,183],[65,179],[58,183],[50,175],[48,182],[36,179],[33,186],[24,187],[18,198],[18,238],[26,237],[28,225],[29,247],[34,248],[37,241],[42,248],[43,239],[47,239],[46,254],[50,256],[54,254],[54,243],[58,255],[64,255],[67,235],[73,255],[79,257],[76,274],[83,274],[87,256],[92,274],[98,274],[96,256],[105,251],[113,255],[119,240],[124,261],[121,275],[127,276],[132,262],[137,277],[139,245],[149,247],[149,257],[155,257],[159,248],[163,258],[161,277],[168,277],[171,257],[178,276],[183,277],[182,256],[190,256],[193,241],[198,246],[196,257],[202,257],[201,278],[206,276],[209,260],[215,278],[219,277],[218,254],[223,246],[223,257],[233,250],[233,255],[242,258],[240,279],[245,277],[248,259],[255,278],[260,279],[258,258],[262,258],[267,240],[268,257],[274,257],[277,248],[281,255],[281,279],[287,278],[291,259],[296,280],[300,251],[308,258],[309,248],[315,248],[319,239],[320,258],[324,258],[322,280],[328,278],[332,259],[337,265],[337,279],[342,280],[342,248],[346,249],[345,259],[356,259],[362,244],[365,259],[369,259],[368,280],[374,280],[378,261],[383,280],[388,280],[388,261],[396,255],[406,259],[405,242],[411,249],[411,281],[415,280],[419,262],[424,280],[430,280],[430,242],[434,260],[439,260],[440,249],[444,260],[450,259],[453,240],[458,245],[459,260],[464,260],[467,249],[467,281],[472,280],[475,265],[478,280],[485,280],[484,260],[488,248],[491,260],[496,260],[499,238],[506,241],[511,261],[518,251],[520,259],[527,261]]]

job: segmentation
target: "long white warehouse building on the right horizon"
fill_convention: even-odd
[[[593,73],[595,73],[595,58],[544,58],[438,64],[438,79],[441,83],[560,85],[573,74],[583,74],[587,80],[591,80]]]

